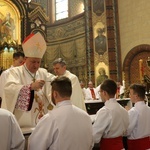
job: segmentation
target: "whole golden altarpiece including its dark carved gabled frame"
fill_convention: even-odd
[[[11,66],[13,52],[22,50],[21,42],[31,32],[41,32],[46,39],[48,20],[39,4],[0,0],[0,68]]]

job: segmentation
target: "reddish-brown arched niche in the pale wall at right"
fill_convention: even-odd
[[[139,59],[143,59],[144,74],[150,76],[147,67],[147,59],[150,56],[150,45],[143,44],[132,48],[126,55],[123,63],[123,71],[125,74],[126,88],[132,83],[139,83]]]

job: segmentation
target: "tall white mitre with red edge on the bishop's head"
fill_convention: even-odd
[[[46,42],[40,32],[25,38],[22,48],[26,57],[42,58],[46,51]]]

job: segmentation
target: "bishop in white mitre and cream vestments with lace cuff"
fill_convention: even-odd
[[[9,71],[2,94],[2,108],[11,111],[22,130],[25,130],[34,128],[51,109],[50,81],[54,75],[40,68],[46,42],[39,32],[30,34],[22,47],[25,63]]]

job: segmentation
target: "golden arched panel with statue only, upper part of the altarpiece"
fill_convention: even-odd
[[[0,1],[0,41],[18,40],[20,16],[15,5],[8,0]]]

